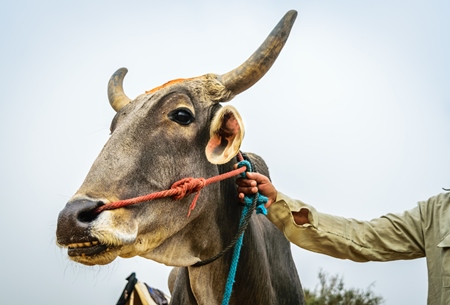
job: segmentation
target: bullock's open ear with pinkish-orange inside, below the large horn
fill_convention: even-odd
[[[244,138],[244,124],[236,108],[227,105],[217,111],[209,134],[205,149],[209,162],[224,164],[235,157]]]

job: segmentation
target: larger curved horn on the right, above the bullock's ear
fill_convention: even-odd
[[[291,10],[284,15],[266,40],[242,65],[218,77],[218,80],[237,95],[259,81],[280,54],[297,17]]]

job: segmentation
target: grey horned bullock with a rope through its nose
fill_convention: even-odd
[[[228,172],[244,135],[234,107],[222,106],[270,69],[283,48],[296,11],[289,11],[263,44],[236,69],[178,79],[129,99],[126,69],[110,79],[108,96],[117,112],[111,136],[80,189],[60,212],[57,243],[71,260],[105,265],[136,255],[175,266],[169,277],[171,304],[219,304],[232,251],[204,265],[237,232],[242,205],[234,178],[204,188],[187,217],[193,195],[161,198],[94,213],[109,203],[166,190],[185,177]],[[265,162],[248,154],[268,175]],[[263,215],[253,215],[244,235],[230,304],[304,304],[290,244]]]

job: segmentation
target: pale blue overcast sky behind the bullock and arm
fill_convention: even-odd
[[[125,277],[167,291],[168,267],[71,263],[56,219],[108,139],[110,75],[137,96],[242,63],[289,9],[271,71],[232,101],[244,151],[275,185],[358,219],[450,187],[450,5],[445,1],[4,1],[0,11],[1,304],[114,304]],[[425,304],[423,259],[359,264],[293,246],[308,288],[320,268],[387,305]]]

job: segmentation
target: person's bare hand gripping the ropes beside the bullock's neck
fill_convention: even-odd
[[[267,203],[264,205],[268,208],[277,199],[277,190],[266,176],[247,172],[246,178],[237,178],[236,184],[238,185],[238,198],[241,202],[244,202],[245,195],[254,195],[258,191],[261,195],[267,197]]]

